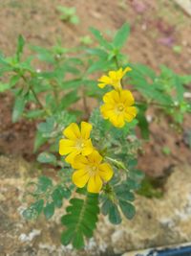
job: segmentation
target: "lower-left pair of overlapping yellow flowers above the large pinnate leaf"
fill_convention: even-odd
[[[72,123],[63,130],[64,139],[59,141],[59,153],[67,155],[65,161],[74,168],[73,182],[78,188],[87,184],[90,193],[99,193],[104,182],[109,181],[114,172],[110,164],[93,147],[90,133],[92,125],[81,122],[80,128]]]

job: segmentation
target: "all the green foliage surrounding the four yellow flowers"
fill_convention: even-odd
[[[64,22],[79,22],[74,8],[57,7],[57,10]],[[49,220],[56,208],[63,207],[64,199],[70,198],[62,218],[65,229],[61,242],[73,244],[75,248],[83,247],[84,239],[93,236],[99,206],[109,221],[118,224],[122,216],[128,220],[135,216],[135,193],[148,198],[161,196],[161,191],[137,169],[141,141],[149,139],[148,108],[155,107],[158,115],[170,116],[180,127],[184,115],[191,112],[191,105],[184,97],[187,84],[191,82],[190,75],[179,75],[166,66],[160,66],[156,73],[146,65],[129,63],[128,57],[122,54],[130,34],[128,24],[109,38],[95,28],[90,31],[96,40],[94,46],[87,35],[81,37],[79,46],[74,48],[63,47],[59,41],[51,48],[30,46],[32,55],[26,58],[24,50],[29,46],[19,35],[15,54],[11,57],[0,54],[0,93],[9,91],[13,95],[12,122],[22,118],[35,122],[33,148],[37,161],[46,168],[56,169],[57,175],[53,180],[43,175],[29,183],[26,197],[31,197],[31,204],[23,216],[32,220],[43,213]],[[133,90],[138,92],[138,115],[123,128],[114,128],[102,118],[98,107],[91,112],[89,103],[94,98],[99,105],[108,91],[107,87],[101,90],[97,86],[96,80],[101,75],[127,66],[132,71],[122,83],[125,88],[128,88],[126,84],[132,84]],[[76,106],[77,103],[82,106]],[[71,181],[73,170],[58,156],[62,130],[81,120],[89,120],[93,125],[92,142],[115,173],[99,195],[86,193],[86,189],[77,190],[76,194]],[[137,136],[137,127],[141,138]],[[170,153],[164,148],[162,151]]]

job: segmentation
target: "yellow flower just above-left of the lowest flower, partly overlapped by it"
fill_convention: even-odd
[[[90,132],[92,125],[86,122],[81,122],[81,130],[75,123],[72,123],[68,128],[63,130],[63,134],[67,139],[59,141],[59,153],[66,155],[66,162],[72,163],[77,154],[88,155],[94,151]]]

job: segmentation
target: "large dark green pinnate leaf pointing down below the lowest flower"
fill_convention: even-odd
[[[96,228],[99,213],[98,195],[88,193],[85,199],[72,198],[66,212],[61,219],[62,224],[67,227],[62,233],[61,242],[64,245],[72,243],[75,248],[82,248],[84,237],[92,237]]]

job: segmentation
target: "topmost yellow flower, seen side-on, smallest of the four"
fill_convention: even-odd
[[[100,88],[104,88],[106,85],[112,85],[116,90],[122,89],[121,86],[121,79],[124,77],[124,75],[131,71],[132,69],[130,67],[126,67],[124,70],[122,68],[119,68],[117,71],[110,71],[108,73],[108,76],[102,76],[98,81],[98,86]]]

